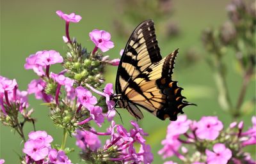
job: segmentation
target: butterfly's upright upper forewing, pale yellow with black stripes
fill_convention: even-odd
[[[116,94],[122,93],[136,76],[161,59],[154,22],[145,20],[134,29],[125,46],[116,74]]]

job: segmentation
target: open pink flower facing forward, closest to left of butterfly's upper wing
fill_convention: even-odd
[[[99,47],[102,52],[114,47],[114,43],[110,40],[111,35],[104,30],[94,29],[89,35],[96,47]]]

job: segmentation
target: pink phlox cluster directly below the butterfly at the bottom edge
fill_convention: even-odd
[[[129,132],[115,121],[112,121],[106,133],[98,133],[93,128],[77,130],[74,136],[77,146],[82,149],[81,157],[91,163],[152,163],[150,145],[143,138],[148,134],[136,122],[131,121],[131,124],[133,128]],[[109,135],[111,138],[101,146],[98,135]],[[134,148],[136,143],[140,144],[138,153]]]

